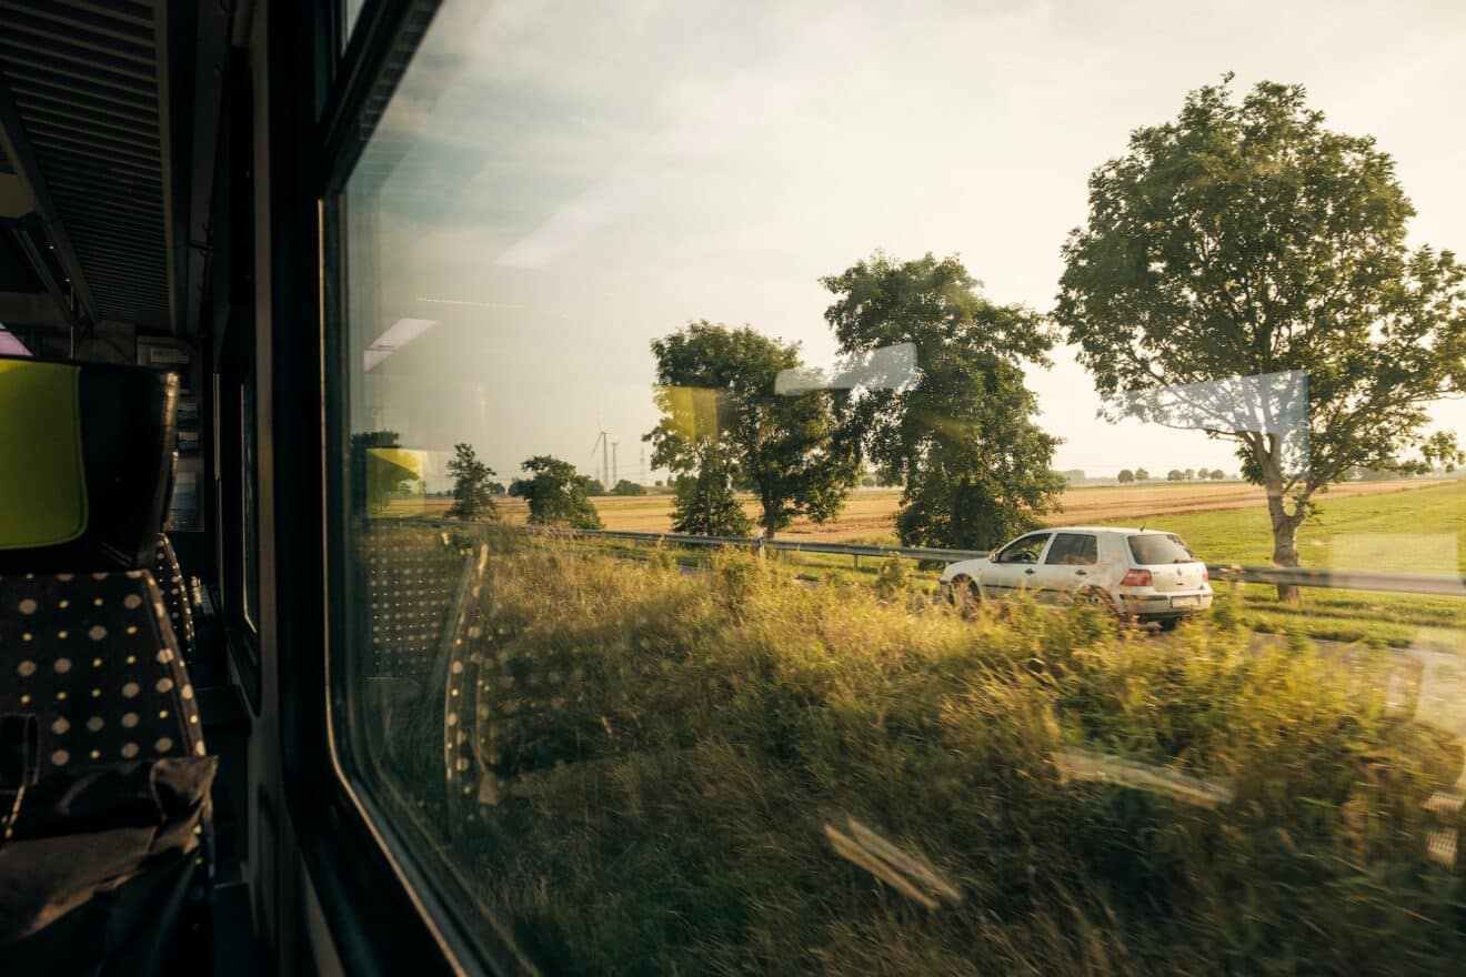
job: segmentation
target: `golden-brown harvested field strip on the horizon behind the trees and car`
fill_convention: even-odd
[[[1325,499],[1353,495],[1378,495],[1425,488],[1437,482],[1410,479],[1399,482],[1349,482],[1333,486]],[[1064,492],[1063,511],[1050,517],[1056,526],[1085,526],[1107,520],[1145,520],[1152,516],[1177,516],[1185,513],[1208,513],[1221,510],[1252,508],[1264,505],[1261,488],[1240,482],[1220,485],[1186,485],[1163,482],[1145,486],[1086,486]],[[642,495],[633,498],[600,497],[595,507],[607,529],[666,533],[671,532],[671,495]],[[891,517],[900,501],[900,489],[861,489],[852,494],[844,513],[836,523],[815,526],[808,520],[796,520],[781,536],[802,539],[893,539]],[[430,498],[422,502],[400,499],[393,502],[394,516],[413,513],[438,514],[449,499]],[[509,521],[523,521],[526,507],[522,499],[498,499],[500,511]],[[758,516],[752,497],[743,501],[751,517]]]

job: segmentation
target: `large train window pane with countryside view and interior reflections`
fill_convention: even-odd
[[[1292,40],[443,4],[328,204],[330,653],[460,923],[572,973],[1459,965],[1466,296],[1406,231],[1466,227],[1462,25],[1400,16],[1394,98],[1331,60],[1388,60],[1362,13],[1255,6]],[[987,558],[1034,532],[1088,571]]]

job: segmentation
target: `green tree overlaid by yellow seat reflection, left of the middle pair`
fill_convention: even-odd
[[[707,321],[651,344],[661,422],[647,435],[652,466],[695,475],[707,460],[754,492],[765,539],[796,516],[839,516],[859,476],[855,444],[836,416],[837,394],[778,390],[800,366],[799,346]],[[721,478],[679,482],[724,491]],[[710,499],[705,508],[715,508]],[[724,507],[726,508],[726,507]]]

